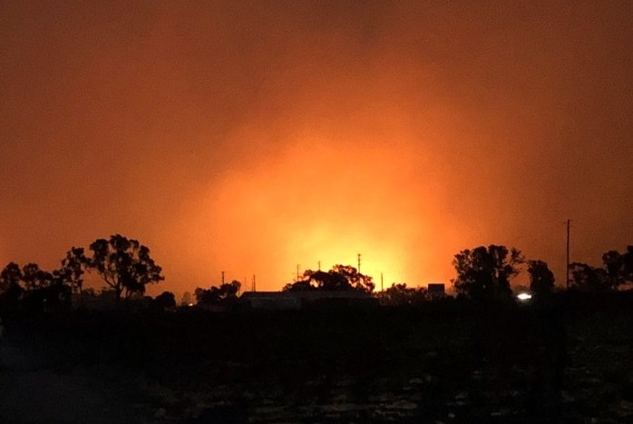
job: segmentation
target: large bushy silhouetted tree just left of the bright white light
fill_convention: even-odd
[[[474,301],[511,299],[510,280],[523,261],[521,251],[494,244],[460,251],[453,259],[455,290]]]

